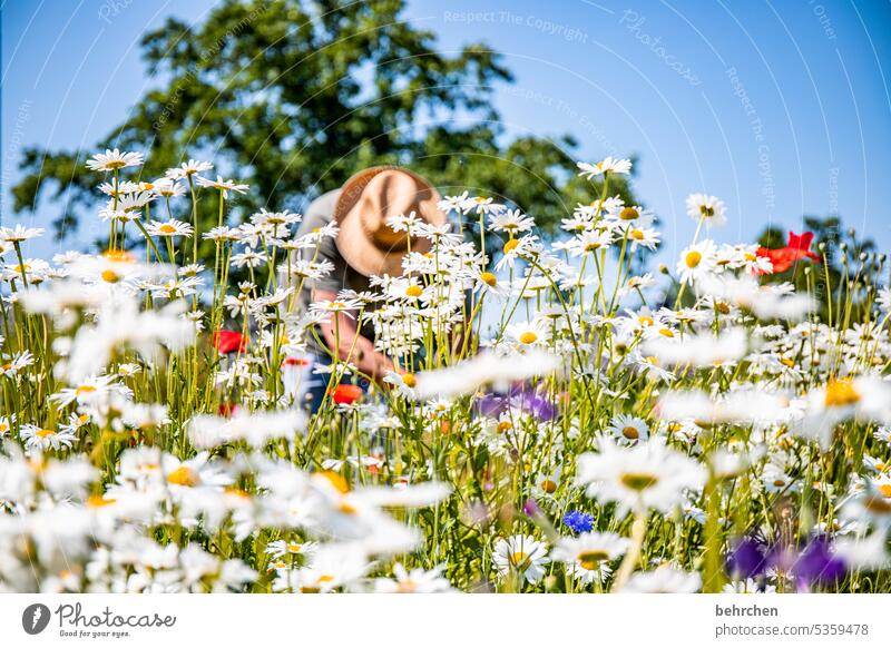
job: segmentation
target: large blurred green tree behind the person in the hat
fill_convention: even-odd
[[[141,41],[158,87],[95,148],[145,153],[147,180],[189,157],[210,158],[252,186],[234,202],[241,217],[260,207],[300,210],[356,170],[394,163],[446,193],[508,200],[554,232],[599,190],[574,173],[577,143],[509,139],[491,105],[493,86],[512,81],[500,56],[483,43],[444,56],[403,8],[403,0],[226,0],[196,27],[168,19]],[[94,150],[26,150],[16,210],[47,197],[61,204],[60,238],[94,218],[97,176],[84,166]],[[611,187],[630,199],[623,181]],[[206,207],[199,218],[206,230],[216,214]],[[202,256],[212,249],[205,242]]]

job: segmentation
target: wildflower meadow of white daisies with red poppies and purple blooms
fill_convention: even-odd
[[[0,590],[891,591],[883,256],[825,289],[809,233],[716,244],[695,194],[693,240],[644,273],[657,220],[607,158],[562,237],[450,196],[449,226],[389,223],[431,243],[403,276],[297,312],[335,226],[233,226],[249,187],[143,161],[88,163],[101,254],[0,229]],[[307,360],[344,314],[393,363],[371,386],[350,350]]]

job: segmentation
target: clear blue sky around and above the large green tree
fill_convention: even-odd
[[[213,4],[0,0],[4,224],[20,148],[90,148],[157,82],[140,35]],[[891,244],[888,1],[410,0],[407,18],[443,51],[484,40],[503,53],[517,82],[495,101],[510,132],[572,134],[585,159],[638,156],[666,255],[689,240],[684,198],[699,190],[728,206],[722,240],[839,213]]]

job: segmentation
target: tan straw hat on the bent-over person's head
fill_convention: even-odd
[[[337,249],[351,267],[365,276],[402,274],[402,257],[409,252],[405,232],[386,225],[391,216],[414,212],[431,225],[443,225],[439,193],[418,174],[400,167],[372,167],[346,180],[334,207],[340,226]],[[425,253],[430,242],[412,237],[411,251]]]

